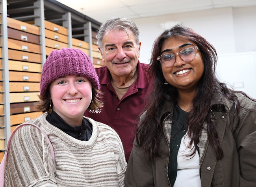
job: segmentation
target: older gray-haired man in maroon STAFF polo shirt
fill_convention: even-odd
[[[126,18],[111,18],[100,26],[97,39],[106,66],[95,68],[103,92],[104,106],[86,110],[91,117],[112,127],[119,134],[128,161],[138,118],[145,98],[152,90],[147,64],[139,62],[139,29]]]

